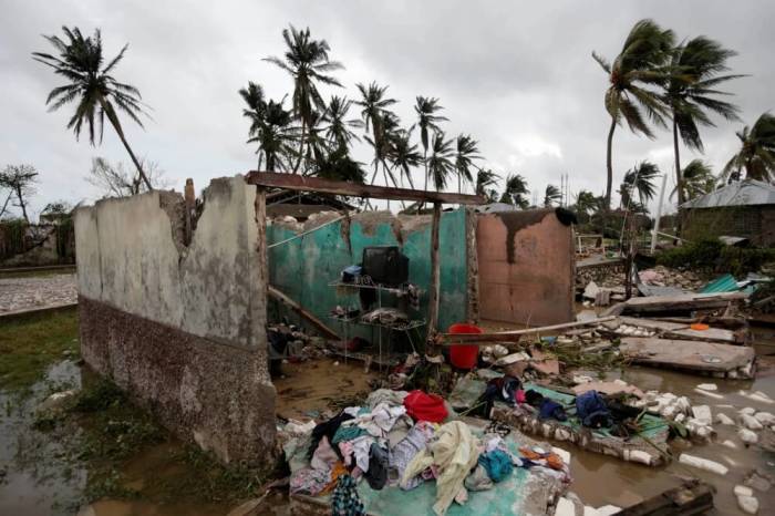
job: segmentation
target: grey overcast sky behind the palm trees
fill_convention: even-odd
[[[590,53],[613,58],[639,19],[653,18],[681,39],[705,34],[736,50],[734,72],[751,76],[725,89],[735,94],[745,124],[775,106],[775,3],[766,1],[0,0],[0,166],[29,163],[40,171],[33,211],[54,199],[97,196],[84,180],[92,157],[128,162],[108,127],[103,144],[92,147],[85,134],[76,142],[65,128],[72,107],[46,112],[45,96],[61,80],[30,53],[49,51],[41,34],[60,33],[62,24],[85,33],[102,29],[107,56],[130,43],[114,75],[140,89],[153,120],[144,131],[125,121],[125,132],[135,153],[157,162],[178,192],[186,177],[198,190],[213,177],[255,168],[237,90],[256,81],[275,99],[291,91],[291,79],[261,61],[282,54],[280,32],[288,23],[309,25],[345,65],[337,73],[344,90],[328,90],[327,96],[355,97],[356,82],[389,84],[405,125],[414,123],[416,95],[437,96],[450,135],[473,134],[486,166],[504,176],[523,174],[541,198],[564,173],[571,194],[603,192],[607,78]],[[715,171],[736,149],[734,132],[742,126],[717,120],[717,127],[703,130],[704,157]],[[365,146],[355,155],[370,161]],[[684,149],[682,163],[691,157]],[[618,130],[614,189],[645,158],[672,173],[670,133],[660,131],[650,141]]]

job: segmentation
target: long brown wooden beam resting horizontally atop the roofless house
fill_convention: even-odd
[[[410,188],[392,188],[388,186],[361,185],[341,180],[321,179],[301,174],[278,174],[275,172],[248,172],[245,176],[251,185],[264,187],[286,188],[298,192],[321,192],[324,194],[348,195],[389,200],[412,200],[425,203],[479,205],[486,200],[480,195],[454,194],[446,192],[426,192]]]

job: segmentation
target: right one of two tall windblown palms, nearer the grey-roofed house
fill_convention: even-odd
[[[736,52],[724,49],[719,42],[700,35],[675,49],[672,56],[673,73],[665,84],[665,103],[670,106],[673,118],[673,149],[675,153],[675,184],[678,202],[686,199],[681,177],[679,155],[679,135],[683,144],[702,152],[700,126],[715,126],[707,116],[709,112],[719,114],[727,121],[740,120],[736,105],[715,99],[728,93],[716,90],[732,79],[743,75],[720,75],[728,70],[726,60]]]

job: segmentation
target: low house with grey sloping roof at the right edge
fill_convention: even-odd
[[[733,236],[775,246],[775,186],[745,179],[728,184],[679,207],[688,239]]]

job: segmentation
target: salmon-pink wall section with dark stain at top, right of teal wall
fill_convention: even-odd
[[[574,314],[574,238],[552,209],[479,215],[479,316],[555,324]]]

